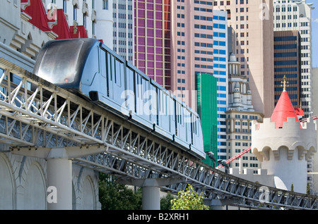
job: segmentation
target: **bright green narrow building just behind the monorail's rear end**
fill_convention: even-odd
[[[216,161],[218,159],[218,139],[217,139],[217,80],[210,74],[199,73],[196,75],[197,108],[201,118],[202,132],[204,136],[204,151],[212,151]],[[213,164],[211,158],[206,156],[204,163],[210,166]]]

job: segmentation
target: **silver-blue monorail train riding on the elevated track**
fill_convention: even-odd
[[[47,42],[33,73],[205,158],[198,114],[97,39]]]

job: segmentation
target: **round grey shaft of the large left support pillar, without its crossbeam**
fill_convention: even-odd
[[[47,159],[47,209],[72,209],[72,162],[69,158]]]

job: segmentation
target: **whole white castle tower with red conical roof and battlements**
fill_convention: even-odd
[[[252,125],[252,152],[261,162],[261,168],[274,176],[278,189],[306,193],[307,161],[317,151],[316,123],[311,118],[300,122],[285,91],[264,123]]]

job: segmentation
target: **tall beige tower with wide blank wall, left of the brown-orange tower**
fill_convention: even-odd
[[[214,9],[228,11],[232,53],[249,80],[252,104],[255,111],[270,117],[274,108],[273,1],[215,0]]]

